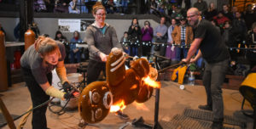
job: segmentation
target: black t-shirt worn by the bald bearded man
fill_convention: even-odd
[[[207,63],[217,63],[230,58],[224,39],[210,21],[201,20],[200,24],[195,28],[195,38],[203,39],[199,48]]]

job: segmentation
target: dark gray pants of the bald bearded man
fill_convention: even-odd
[[[213,121],[223,121],[224,119],[224,104],[221,88],[228,66],[229,59],[213,64],[206,63],[203,84],[207,92],[207,104],[212,105]]]

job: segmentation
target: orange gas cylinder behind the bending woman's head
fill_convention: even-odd
[[[28,25],[28,30],[25,32],[25,51],[36,41],[36,34],[31,30],[31,25]]]

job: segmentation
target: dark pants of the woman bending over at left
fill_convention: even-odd
[[[43,104],[44,102],[48,101],[49,95],[47,95],[42,87],[39,86],[34,76],[32,76],[32,71],[29,69],[21,68],[21,73],[24,77],[24,81],[26,81],[26,86],[30,92],[33,108],[38,106],[39,104]],[[49,84],[51,84],[52,74],[47,74],[47,78]],[[32,129],[47,129],[47,121],[45,115],[47,106],[48,104],[32,111]]]

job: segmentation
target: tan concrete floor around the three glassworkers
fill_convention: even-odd
[[[172,81],[162,81],[160,88],[160,121],[171,121],[172,117],[177,114],[182,114],[183,109],[197,109],[199,104],[206,104],[206,93],[202,86],[188,86],[181,90],[179,84]],[[7,92],[1,93],[4,104],[9,113],[13,115],[21,115],[32,104],[30,94],[25,87],[25,83],[15,84],[10,87]],[[224,96],[224,115],[235,115],[236,117],[247,121],[247,128],[252,128],[253,120],[241,115],[242,97],[239,91],[223,89]],[[137,109],[135,104],[130,104],[124,110],[124,113],[129,115],[132,121],[135,118],[143,116],[144,121],[148,124],[153,124],[154,121],[154,97],[144,103],[147,109]],[[252,109],[250,104],[245,104],[245,109]],[[64,115],[57,116],[47,111],[48,126],[51,129],[76,129],[79,124],[78,110],[67,112]],[[31,129],[32,115],[29,116],[25,129]],[[15,125],[19,124],[20,120],[15,121]],[[124,125],[126,121],[122,121],[110,113],[103,121],[95,125],[86,126],[85,129],[117,129]],[[9,128],[8,126],[3,129]]]

